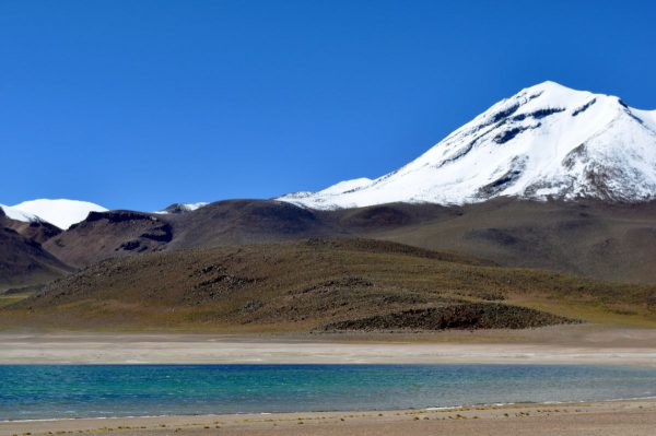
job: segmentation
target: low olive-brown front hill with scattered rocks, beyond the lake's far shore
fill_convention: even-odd
[[[305,239],[115,258],[0,309],[0,326],[225,332],[655,325],[656,287],[492,267],[400,244]]]

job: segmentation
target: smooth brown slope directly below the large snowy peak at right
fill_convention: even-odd
[[[476,256],[506,267],[656,283],[656,269],[652,268],[656,261],[656,202],[496,199],[431,212],[419,222],[359,235]]]

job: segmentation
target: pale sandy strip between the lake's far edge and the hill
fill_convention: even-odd
[[[587,330],[585,330],[587,329]],[[656,365],[655,330],[538,330],[531,338],[285,338],[1,333],[0,364],[540,363]]]

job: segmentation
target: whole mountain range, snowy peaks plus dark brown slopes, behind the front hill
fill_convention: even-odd
[[[578,129],[574,135],[573,127]],[[465,170],[471,167],[478,169]],[[550,170],[561,172],[560,181],[547,177]],[[459,178],[435,185],[444,181],[443,172]],[[391,198],[389,187],[396,189]],[[459,197],[449,197],[454,192]],[[0,227],[7,228],[11,247],[23,244],[26,252],[37,248],[44,259],[51,255],[61,262],[57,273],[153,251],[364,237],[502,267],[651,283],[656,280],[651,267],[656,257],[654,192],[656,111],[546,82],[499,102],[378,179],[344,180],[318,193],[272,200],[174,203],[160,212],[36,200],[0,205]],[[352,204],[363,196],[364,205]],[[71,204],[82,205],[75,216],[68,213]],[[45,214],[48,210],[55,214]],[[11,247],[0,247],[5,257],[0,268],[9,273],[17,249]],[[5,281],[16,284],[10,275]]]

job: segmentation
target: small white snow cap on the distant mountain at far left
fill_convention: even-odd
[[[107,211],[107,209],[102,205],[90,203],[87,201],[45,199],[24,201],[9,209],[17,211],[25,216],[34,216],[42,221],[47,221],[62,229],[67,229],[71,225],[83,221],[86,219],[86,215],[89,215],[89,212]]]

